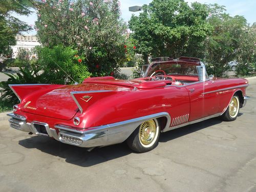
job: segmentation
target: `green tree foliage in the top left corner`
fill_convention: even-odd
[[[23,31],[31,30],[31,27],[18,18],[12,16],[13,12],[20,15],[31,13],[32,0],[5,0],[0,4],[0,57],[10,56],[11,47],[16,44],[15,36]]]

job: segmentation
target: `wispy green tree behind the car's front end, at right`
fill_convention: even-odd
[[[246,47],[251,44],[248,42],[248,35],[246,35],[248,24],[243,16],[232,17],[227,14],[224,6],[214,4],[209,5],[208,9],[210,12],[208,22],[214,27],[214,30],[205,41],[207,71],[218,77],[225,76],[230,69],[227,65],[229,61],[239,60],[242,62],[247,60],[244,58],[248,57]],[[248,48],[253,49],[254,45]]]

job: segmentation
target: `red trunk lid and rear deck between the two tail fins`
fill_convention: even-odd
[[[78,85],[63,86],[48,93],[35,92],[30,94],[20,104],[20,109],[27,113],[70,120],[78,112],[78,106],[71,92],[84,92],[96,90],[110,90],[114,92],[130,90],[112,84],[82,83]]]

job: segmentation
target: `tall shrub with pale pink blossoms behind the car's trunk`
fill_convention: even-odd
[[[111,75],[127,61],[126,25],[117,0],[47,0],[38,5],[37,35],[44,47],[77,50],[92,76]],[[135,46],[135,45],[133,45]]]

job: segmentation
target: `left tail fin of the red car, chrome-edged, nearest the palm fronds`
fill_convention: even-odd
[[[9,87],[18,97],[19,101],[35,91],[42,91],[48,89],[56,89],[63,85],[61,84],[9,84]]]

